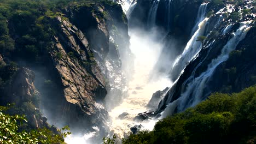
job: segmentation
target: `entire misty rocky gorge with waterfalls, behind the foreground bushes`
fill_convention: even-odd
[[[256,83],[253,0],[55,1],[0,0],[1,105],[28,129],[121,143]]]

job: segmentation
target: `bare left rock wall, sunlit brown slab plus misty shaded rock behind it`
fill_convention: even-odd
[[[97,136],[107,135],[108,112],[103,105],[120,103],[125,93],[121,56],[131,53],[126,17],[119,5],[95,4],[65,8],[62,15],[49,19],[56,33],[45,72],[50,71],[46,83],[51,86],[40,89],[47,91],[42,98],[45,113],[77,132],[96,127]]]

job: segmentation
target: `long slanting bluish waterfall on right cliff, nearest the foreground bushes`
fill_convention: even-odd
[[[220,63],[228,59],[229,53],[236,48],[237,44],[242,39],[245,38],[249,28],[251,28],[249,27],[250,23],[251,21],[241,22],[241,25],[237,31],[232,33],[233,37],[223,47],[221,54],[216,59],[212,60],[205,72],[188,84],[187,90],[181,95],[181,103],[178,106],[179,111],[183,111],[185,108],[190,106],[195,106],[200,101],[205,99],[203,97],[203,91],[205,90],[207,82],[210,80],[214,70]],[[191,99],[189,99],[190,95],[193,95]]]

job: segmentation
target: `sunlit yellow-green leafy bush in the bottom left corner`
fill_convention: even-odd
[[[0,106],[0,143],[63,143],[63,137],[71,134],[68,127],[57,130],[59,134],[47,128],[22,130],[22,125],[27,123],[26,117],[8,115],[5,113],[8,109],[9,106]]]

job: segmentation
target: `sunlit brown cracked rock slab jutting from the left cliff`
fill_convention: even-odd
[[[61,79],[63,98],[56,106],[60,109],[53,113],[58,113],[56,119],[65,118],[71,127],[79,127],[81,122],[90,125],[104,111],[96,106],[96,101],[102,101],[107,94],[104,77],[82,31],[61,17],[55,19],[55,25],[60,27],[56,27],[59,31],[50,56]]]

